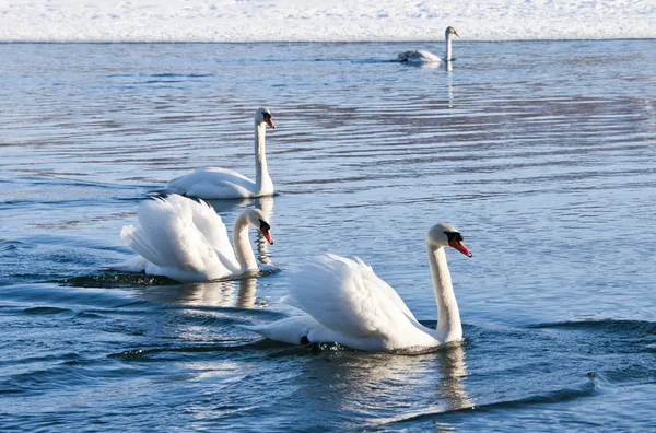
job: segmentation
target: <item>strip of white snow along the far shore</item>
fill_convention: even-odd
[[[0,0],[0,42],[656,37],[656,0]]]

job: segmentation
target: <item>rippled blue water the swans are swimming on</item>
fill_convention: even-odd
[[[656,429],[656,42],[0,45],[0,430]],[[168,179],[254,175],[273,202],[258,279],[106,270]],[[424,235],[448,254],[462,346],[290,347],[308,257],[358,255],[434,326]]]

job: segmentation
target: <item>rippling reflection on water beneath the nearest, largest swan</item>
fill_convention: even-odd
[[[307,401],[320,401],[323,411],[379,411],[383,422],[373,428],[468,408],[473,400],[464,384],[465,350],[457,344],[415,355],[321,351],[297,375],[297,390]]]

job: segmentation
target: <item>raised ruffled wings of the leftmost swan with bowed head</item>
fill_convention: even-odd
[[[230,269],[194,223],[195,206],[201,204],[184,200],[187,202],[176,198],[143,202],[138,211],[139,225],[125,226],[121,239],[159,267],[161,274],[172,278],[179,274],[197,276],[185,280],[211,280],[230,274]]]

